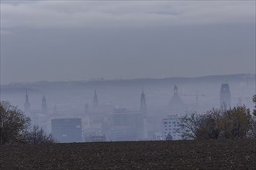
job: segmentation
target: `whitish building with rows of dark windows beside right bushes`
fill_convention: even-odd
[[[162,120],[162,137],[165,140],[167,137],[171,137],[172,140],[181,140],[182,136],[178,130],[178,115],[168,115],[168,118]]]

